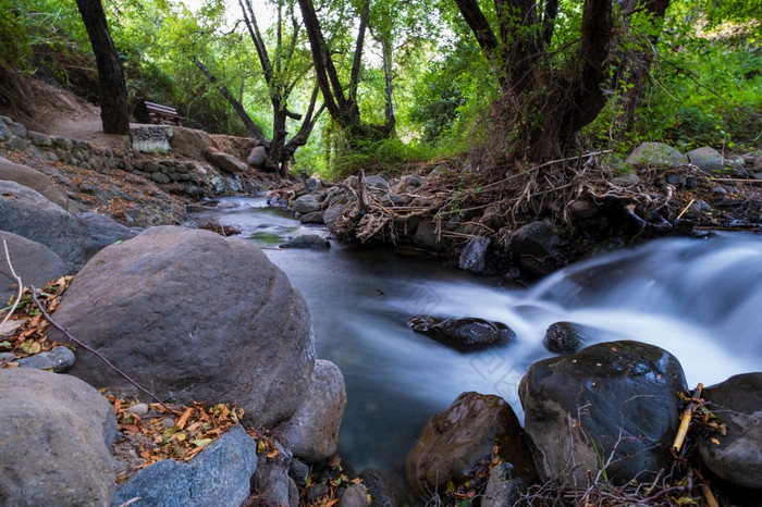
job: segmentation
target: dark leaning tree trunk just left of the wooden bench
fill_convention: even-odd
[[[76,0],[98,66],[100,119],[107,134],[130,134],[130,107],[124,70],[100,0]]]

